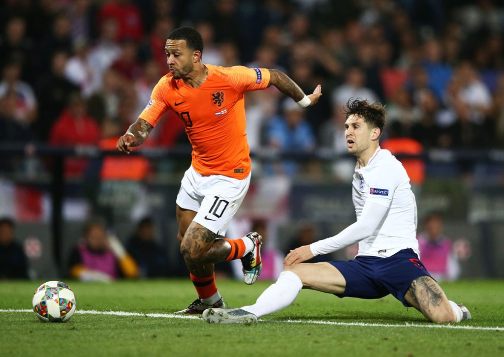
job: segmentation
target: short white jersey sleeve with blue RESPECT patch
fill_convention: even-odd
[[[390,207],[402,173],[396,165],[383,165],[368,174],[369,195],[367,201]]]

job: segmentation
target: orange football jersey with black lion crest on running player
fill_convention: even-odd
[[[270,72],[265,68],[205,65],[207,79],[198,88],[174,79],[171,73],[161,78],[139,117],[156,126],[166,110],[175,111],[193,146],[194,169],[204,176],[241,180],[250,173],[243,94],[267,88]]]

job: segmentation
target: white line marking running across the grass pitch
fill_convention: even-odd
[[[0,312],[32,312],[30,309],[0,309]],[[183,320],[201,320],[199,316],[192,315],[175,315],[175,314],[143,314],[140,312],[127,311],[98,311],[98,310],[77,310],[76,314],[97,314],[97,315],[114,315],[114,316],[143,316],[143,317],[162,317],[168,319],[183,319]],[[378,324],[366,322],[336,322],[336,321],[318,321],[318,320],[262,320],[262,322],[287,322],[287,323],[304,323],[317,325],[336,325],[336,326],[361,326],[361,327],[423,327],[423,328],[448,328],[454,330],[485,330],[485,331],[504,331],[504,327],[484,327],[484,326],[468,326],[468,325],[438,325],[438,324]]]

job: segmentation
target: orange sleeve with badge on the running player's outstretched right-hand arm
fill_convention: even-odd
[[[233,66],[227,73],[231,87],[240,93],[257,91],[270,85],[270,71],[266,68]]]

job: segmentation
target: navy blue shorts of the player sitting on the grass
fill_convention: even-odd
[[[388,258],[357,256],[354,260],[333,260],[334,265],[345,277],[346,288],[340,298],[380,299],[392,294],[404,306],[411,282],[420,276],[430,276],[413,249],[403,249]]]

